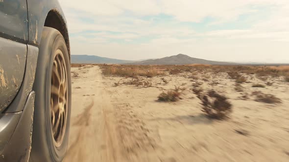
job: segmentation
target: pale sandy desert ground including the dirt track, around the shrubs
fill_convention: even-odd
[[[192,93],[189,74],[144,78],[152,87],[115,86],[128,81],[103,77],[98,66],[74,67],[70,144],[64,162],[289,162],[289,83],[244,92],[225,74],[196,74],[204,89],[214,88],[233,104],[230,119],[208,119]],[[212,82],[218,82],[217,85]],[[186,88],[182,100],[158,102],[174,85]],[[274,94],[283,103],[254,101],[251,92]],[[242,95],[249,99],[241,100]],[[241,133],[240,133],[241,132]]]

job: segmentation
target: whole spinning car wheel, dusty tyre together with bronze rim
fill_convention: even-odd
[[[30,162],[61,162],[68,147],[71,73],[60,32],[44,27],[33,84],[35,108]]]

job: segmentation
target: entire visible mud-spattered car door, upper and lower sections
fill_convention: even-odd
[[[14,99],[24,77],[27,16],[26,0],[0,0],[0,112]]]

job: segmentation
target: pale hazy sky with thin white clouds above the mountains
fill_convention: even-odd
[[[289,0],[59,0],[72,55],[289,63]]]

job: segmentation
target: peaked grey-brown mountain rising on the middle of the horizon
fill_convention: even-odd
[[[150,59],[138,62],[129,62],[126,64],[135,65],[183,65],[183,64],[212,64],[212,65],[235,65],[239,63],[234,62],[220,62],[220,61],[209,61],[203,59],[192,58],[187,55],[178,54],[175,56],[165,57],[161,59]]]

